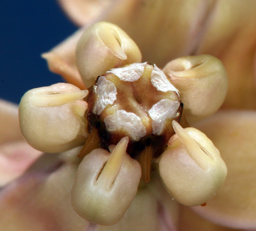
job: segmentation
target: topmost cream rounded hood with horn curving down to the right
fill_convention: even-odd
[[[77,68],[87,88],[109,69],[140,61],[135,42],[118,26],[107,22],[89,27],[76,48]]]

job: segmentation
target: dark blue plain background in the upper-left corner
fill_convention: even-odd
[[[0,98],[19,103],[27,90],[61,82],[40,54],[76,29],[54,0],[1,0]]]

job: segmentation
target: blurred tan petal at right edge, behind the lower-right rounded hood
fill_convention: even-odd
[[[219,149],[228,168],[220,191],[200,215],[233,228],[256,228],[256,112],[220,111],[196,124]]]

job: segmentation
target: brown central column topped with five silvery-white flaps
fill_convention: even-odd
[[[133,63],[98,77],[86,117],[89,132],[95,136],[97,131],[102,148],[108,150],[128,136],[126,152],[139,162],[146,161],[140,161],[146,153],[151,164],[174,134],[172,120],[179,122],[181,112],[179,92],[164,72],[156,65]]]

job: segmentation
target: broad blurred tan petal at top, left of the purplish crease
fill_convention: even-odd
[[[143,60],[162,68],[174,58],[193,54],[214,2],[116,1],[100,20],[121,27],[136,42]]]

